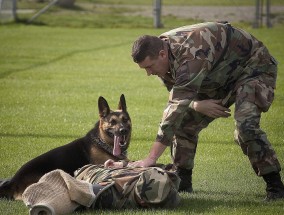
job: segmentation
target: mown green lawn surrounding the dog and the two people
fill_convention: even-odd
[[[135,21],[135,20],[134,20]],[[275,102],[262,128],[284,165],[284,26],[251,29],[280,62]],[[98,119],[97,99],[116,108],[125,94],[133,122],[130,159],[148,154],[167,101],[155,77],[147,77],[130,57],[142,34],[166,29],[0,26],[0,178],[26,161],[85,135]],[[181,194],[171,210],[97,211],[81,214],[284,214],[283,201],[264,203],[265,184],[233,142],[233,118],[219,119],[201,133],[194,194]],[[159,162],[169,163],[169,153]],[[283,172],[281,173],[284,177]],[[28,214],[20,201],[0,200],[0,214]]]

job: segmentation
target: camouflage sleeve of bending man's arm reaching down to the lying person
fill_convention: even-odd
[[[181,126],[186,110],[192,107],[208,67],[207,61],[194,59],[186,61],[177,69],[175,84],[170,91],[156,141],[164,145],[171,145],[174,133]]]

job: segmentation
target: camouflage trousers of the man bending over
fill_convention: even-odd
[[[272,69],[277,70],[276,66]],[[234,139],[243,153],[248,156],[258,176],[281,170],[275,151],[266,133],[260,128],[261,113],[268,111],[274,98],[274,88],[267,84],[267,80],[272,79],[270,83],[273,83],[275,78],[259,76],[238,85],[225,104],[226,107],[230,107],[235,103]],[[211,99],[225,98],[230,90],[232,89],[219,91],[217,93],[219,97]],[[200,95],[200,98],[210,99],[204,98],[203,95]],[[172,144],[173,163],[177,167],[193,169],[199,132],[213,120],[188,109],[180,128],[175,132]]]

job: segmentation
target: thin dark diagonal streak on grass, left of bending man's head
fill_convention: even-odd
[[[111,46],[100,46],[100,47],[97,47],[97,48],[72,51],[72,52],[63,54],[63,55],[61,55],[59,57],[50,59],[48,61],[39,62],[39,63],[30,65],[30,66],[27,66],[25,68],[11,69],[11,70],[8,70],[8,71],[3,71],[3,72],[0,73],[0,79],[5,78],[5,77],[7,77],[7,76],[9,76],[9,75],[11,75],[13,73],[23,72],[23,71],[26,71],[26,70],[35,69],[35,68],[38,68],[38,67],[42,67],[42,66],[46,66],[46,65],[49,65],[49,64],[52,64],[52,63],[56,63],[56,62],[61,61],[63,59],[70,58],[70,57],[72,57],[72,56],[74,56],[76,54],[87,53],[87,52],[96,52],[96,51],[100,51],[100,50],[116,48],[116,47],[120,47],[120,46],[124,46],[124,45],[129,45],[130,43],[131,42],[129,41],[129,42],[124,42],[124,43],[114,44],[114,45],[111,45]]]

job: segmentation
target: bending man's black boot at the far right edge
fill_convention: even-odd
[[[265,201],[274,201],[284,199],[284,185],[281,181],[279,172],[272,172],[262,176],[266,182],[266,197]]]

